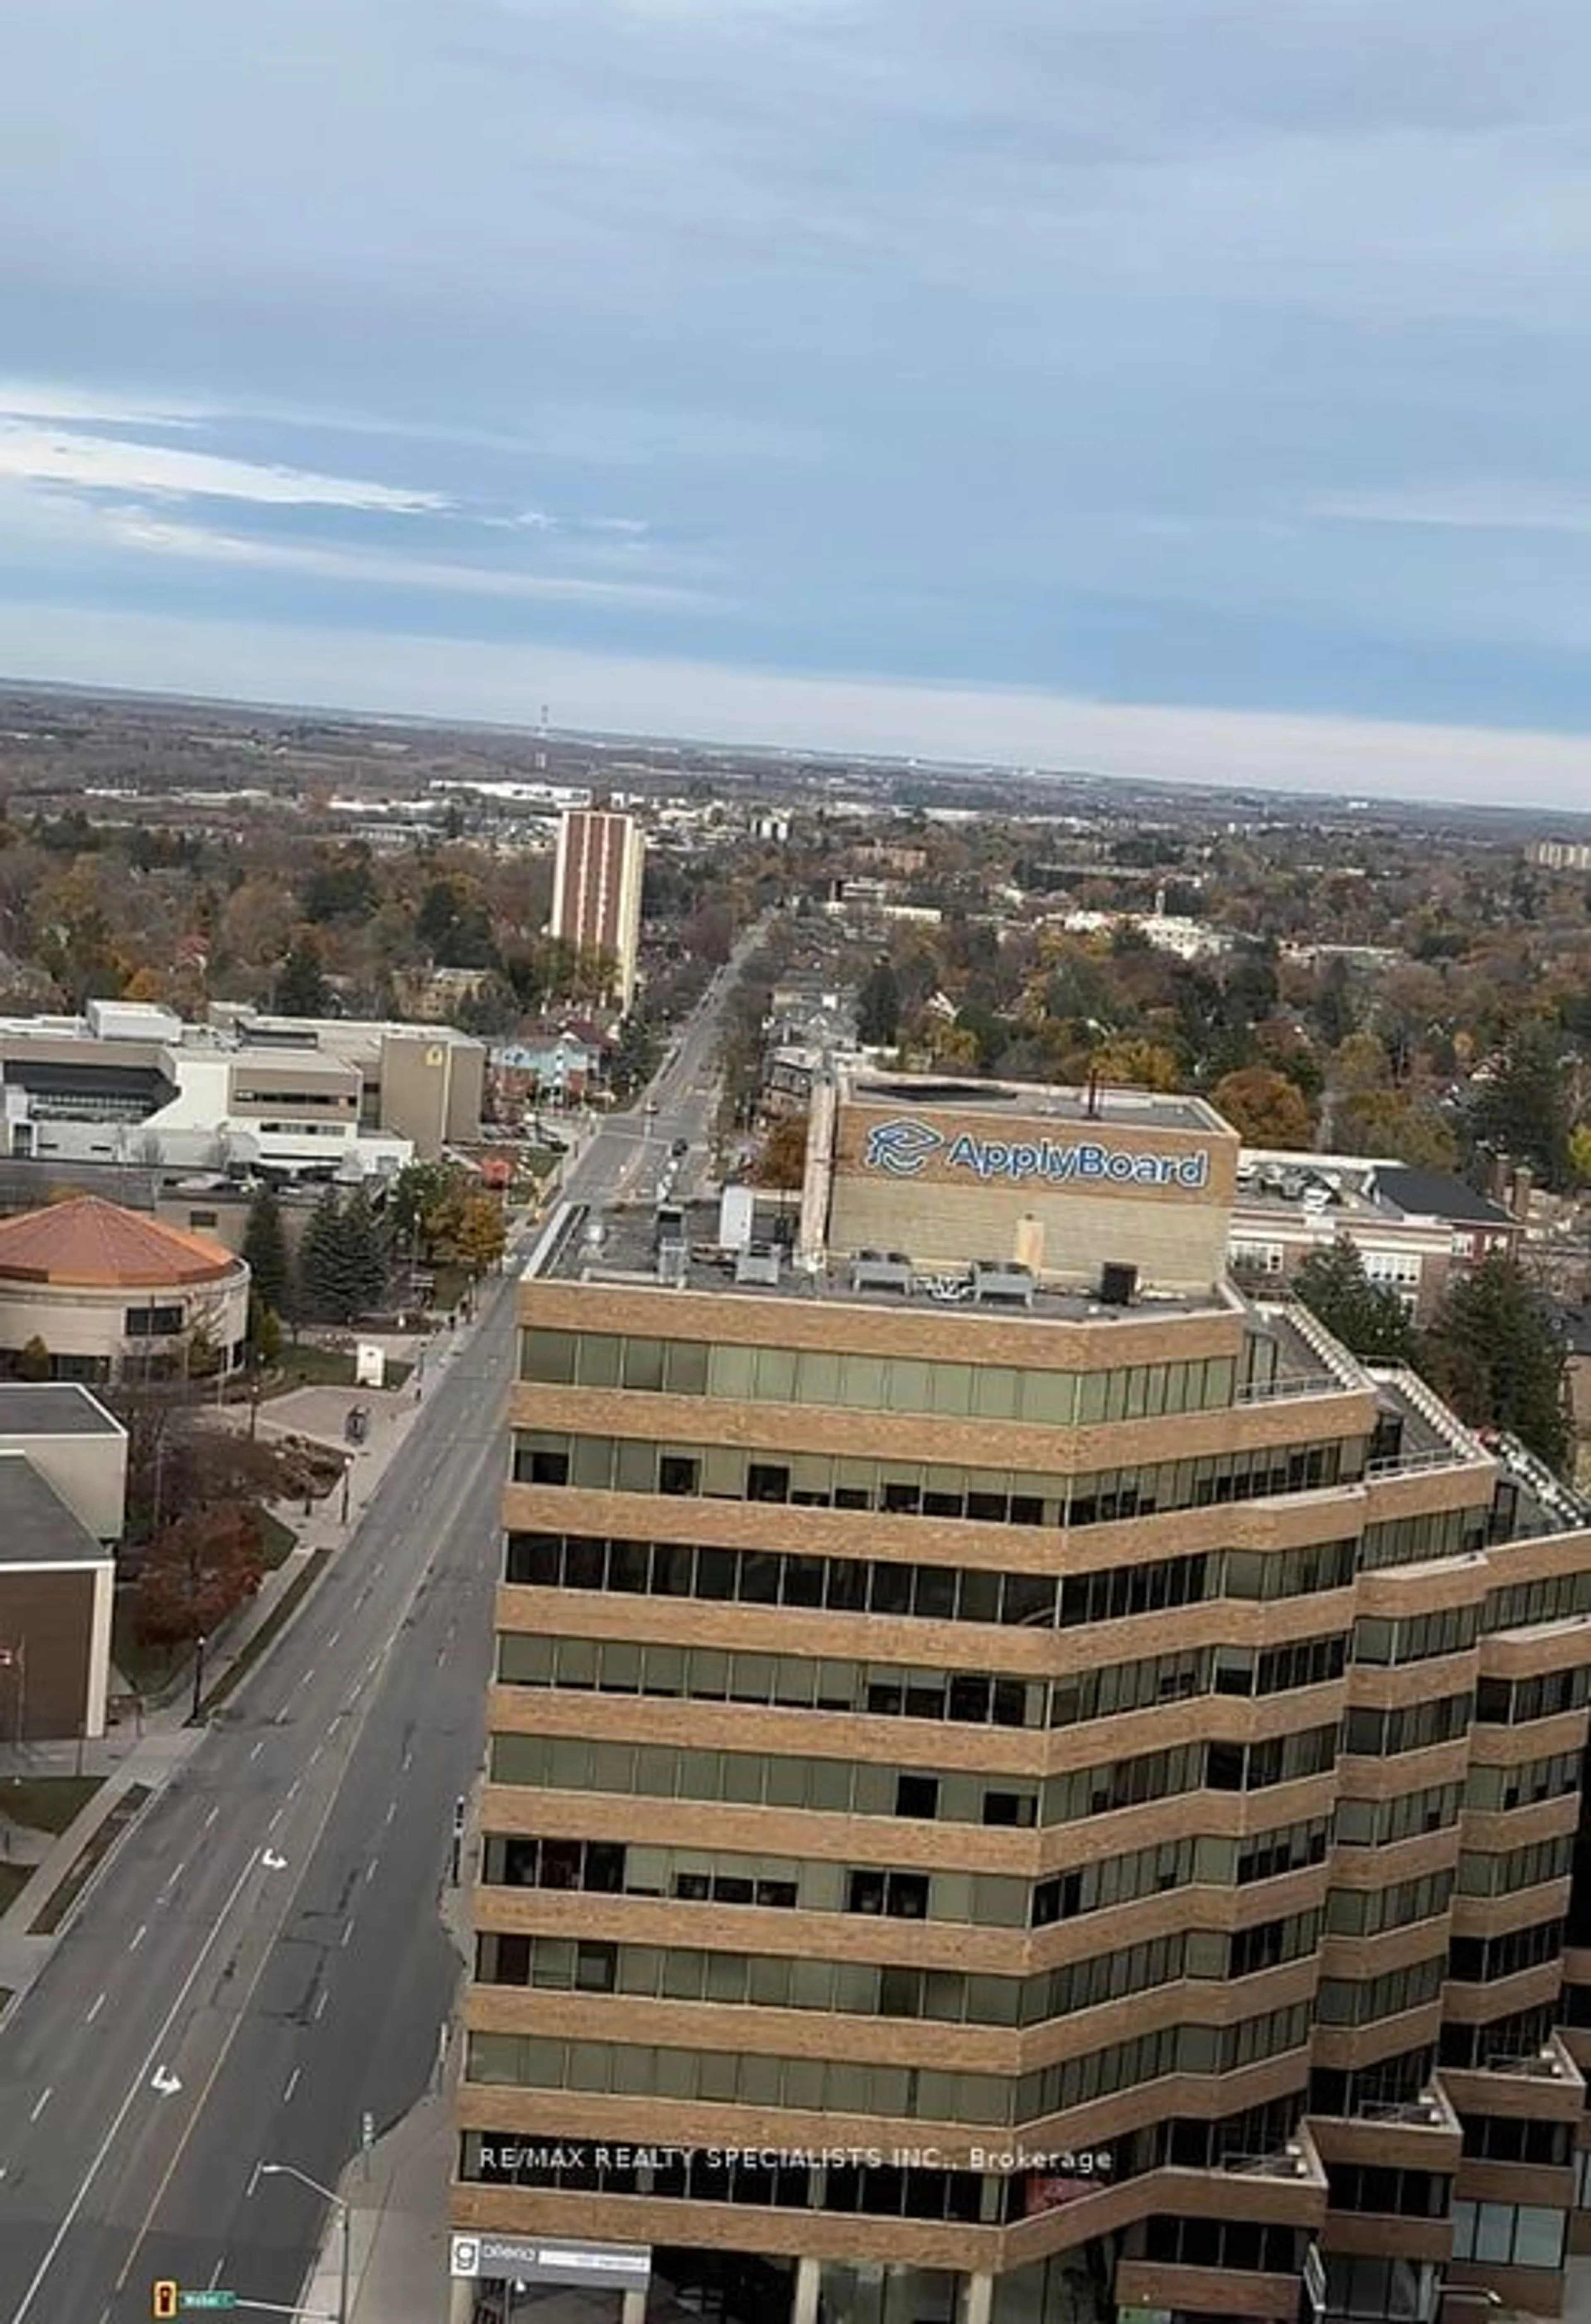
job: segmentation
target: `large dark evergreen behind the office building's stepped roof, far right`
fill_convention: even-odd
[[[1419,1369],[1461,1420],[1510,1429],[1552,1469],[1568,1464],[1568,1350],[1517,1260],[1496,1253],[1449,1285]]]

